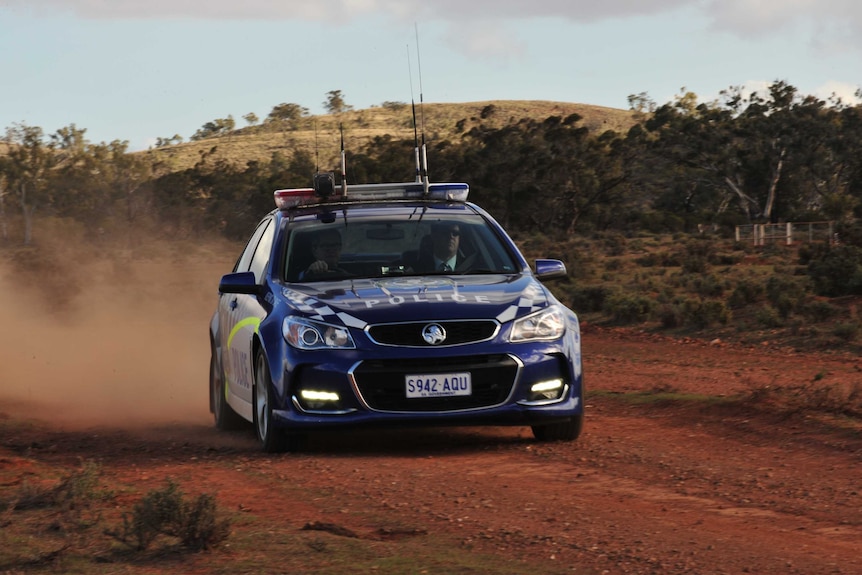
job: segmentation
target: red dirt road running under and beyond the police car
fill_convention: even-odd
[[[862,573],[858,426],[614,393],[836,384],[858,381],[858,361],[595,330],[584,346],[594,393],[571,444],[519,428],[363,431],[266,456],[202,410],[190,423],[18,430],[2,466],[9,477],[94,459],[121,484],[177,478],[285,528],[454,537],[538,573]],[[3,405],[7,418],[16,407]]]

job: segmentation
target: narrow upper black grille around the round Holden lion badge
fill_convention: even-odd
[[[500,324],[493,320],[384,323],[371,326],[368,329],[368,336],[381,345],[431,347],[431,344],[422,338],[422,330],[432,323],[436,323],[446,330],[446,340],[434,347],[485,341],[494,337],[500,327]]]

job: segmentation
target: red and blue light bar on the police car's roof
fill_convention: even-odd
[[[425,187],[427,186],[427,195]],[[460,183],[426,184],[407,182],[400,184],[355,184],[350,186],[347,198],[336,197],[329,201],[386,201],[386,200],[436,200],[466,202],[470,186]],[[275,205],[282,210],[307,204],[326,202],[325,197],[313,188],[294,188],[275,191]]]

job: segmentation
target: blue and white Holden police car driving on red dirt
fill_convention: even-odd
[[[275,192],[221,278],[210,410],[264,451],[363,425],[523,425],[574,440],[584,418],[578,318],[462,183]]]

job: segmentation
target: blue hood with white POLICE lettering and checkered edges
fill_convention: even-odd
[[[425,276],[292,284],[282,290],[303,315],[352,327],[431,319],[505,323],[549,305],[529,274]]]

